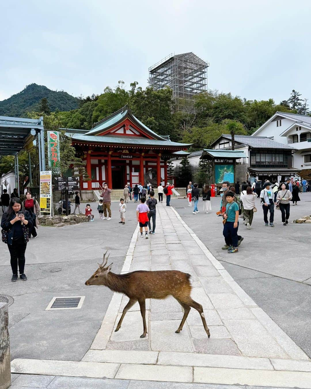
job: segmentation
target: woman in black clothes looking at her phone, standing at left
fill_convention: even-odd
[[[17,281],[17,267],[21,280],[27,280],[24,273],[25,251],[29,241],[28,229],[33,226],[33,217],[28,211],[23,212],[21,208],[21,200],[11,198],[9,208],[1,220],[2,240],[7,243],[11,256],[12,282]]]

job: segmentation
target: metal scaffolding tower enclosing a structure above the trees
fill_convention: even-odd
[[[193,53],[170,54],[149,70],[149,85],[155,90],[168,86],[178,107],[207,91],[209,63]]]

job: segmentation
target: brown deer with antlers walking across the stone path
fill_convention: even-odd
[[[210,331],[207,327],[203,307],[201,304],[192,300],[191,294],[191,275],[188,273],[179,272],[178,270],[157,270],[145,271],[137,270],[135,272],[115,274],[111,272],[111,266],[107,265],[109,254],[108,250],[104,253],[103,263],[99,264],[96,272],[85,281],[85,285],[102,285],[108,287],[111,291],[123,293],[129,298],[129,302],[125,305],[120,320],[116,326],[115,332],[121,328],[122,321],[127,311],[138,301],[144,332],[140,336],[144,338],[147,334],[146,325],[146,298],[164,299],[167,296],[173,296],[184,310],[184,315],[179,327],[175,333],[180,333],[184,323],[188,317],[191,308],[195,308],[202,319],[202,323],[210,337]]]

